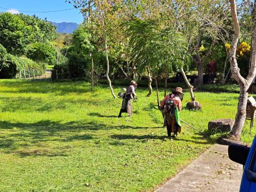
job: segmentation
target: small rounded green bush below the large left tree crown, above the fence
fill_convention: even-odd
[[[53,45],[43,42],[34,42],[26,47],[26,54],[29,58],[39,62],[56,63],[57,52]]]

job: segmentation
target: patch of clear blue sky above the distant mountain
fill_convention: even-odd
[[[63,10],[63,9],[72,9],[73,5],[68,4],[65,0],[1,0],[0,7],[7,9],[15,9],[20,13],[24,13],[26,15],[37,15],[38,17],[51,22],[74,22],[77,24],[82,23],[83,16],[79,13],[79,10],[73,9],[68,11],[61,12],[52,12],[52,13],[27,13],[21,11],[55,11],[55,10]],[[4,10],[0,8],[0,12],[6,12],[8,10]],[[16,11],[11,11],[16,12]]]

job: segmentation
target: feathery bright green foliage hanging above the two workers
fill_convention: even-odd
[[[169,28],[161,29],[157,20],[135,19],[126,25],[126,34],[130,38],[132,57],[139,66],[138,71],[144,71],[149,66],[153,74],[159,76],[166,64],[168,71],[178,71],[189,64],[187,40],[181,33]]]

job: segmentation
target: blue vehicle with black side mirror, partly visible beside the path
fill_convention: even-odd
[[[244,165],[240,192],[256,191],[256,136],[251,147],[239,144],[228,146],[229,159]]]

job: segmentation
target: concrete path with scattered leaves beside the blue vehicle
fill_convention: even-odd
[[[243,165],[229,160],[227,148],[227,145],[212,146],[156,191],[239,191]]]

